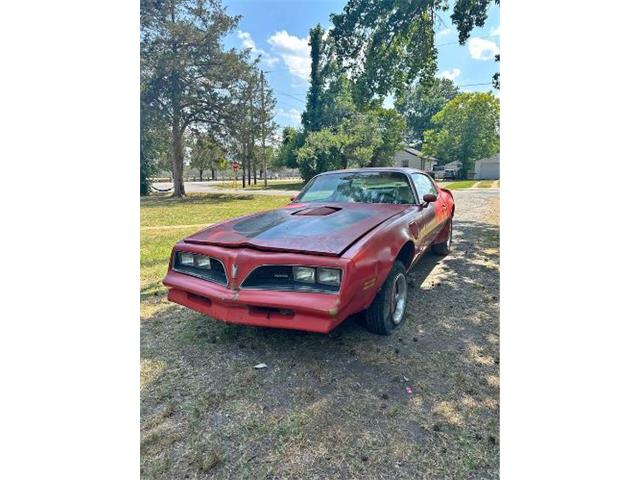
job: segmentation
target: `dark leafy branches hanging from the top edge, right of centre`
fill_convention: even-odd
[[[493,0],[456,0],[452,21],[464,43]],[[499,0],[495,0],[499,4]],[[331,16],[337,57],[355,82],[358,102],[428,82],[437,68],[434,25],[446,0],[349,0]]]

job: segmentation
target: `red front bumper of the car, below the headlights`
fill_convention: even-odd
[[[328,333],[351,313],[339,294],[231,290],[173,270],[163,284],[169,301],[227,323]]]

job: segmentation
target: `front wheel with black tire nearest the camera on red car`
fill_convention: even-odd
[[[400,279],[400,277],[402,278]],[[404,303],[401,306],[402,311],[398,311],[396,314],[396,306],[398,304],[395,300],[393,304],[391,302],[395,297],[394,290],[396,288],[402,288],[402,284],[404,284]],[[367,328],[378,335],[389,335],[393,330],[398,328],[404,322],[407,315],[407,293],[407,270],[404,268],[402,262],[396,260],[382,288],[376,295],[371,306],[365,312]],[[398,293],[398,295],[400,295],[400,293]]]

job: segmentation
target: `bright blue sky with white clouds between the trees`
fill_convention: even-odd
[[[227,11],[241,15],[240,25],[226,40],[229,47],[251,48],[262,55],[261,67],[278,100],[276,121],[282,127],[299,126],[304,110],[310,68],[307,36],[317,23],[330,27],[329,15],[342,11],[346,0],[223,0]],[[476,28],[464,46],[448,13],[438,23],[438,74],[452,79],[463,91],[493,91],[490,85],[498,65],[500,10],[492,5],[483,28]],[[489,85],[475,85],[489,84]]]

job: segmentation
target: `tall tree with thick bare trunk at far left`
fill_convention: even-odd
[[[225,131],[234,117],[246,53],[224,51],[222,39],[238,23],[219,0],[141,0],[142,100],[171,130],[174,196],[185,193],[187,129]]]

